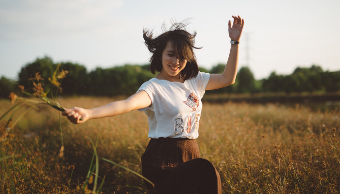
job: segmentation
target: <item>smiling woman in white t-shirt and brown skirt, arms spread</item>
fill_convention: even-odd
[[[244,26],[240,16],[232,16],[229,58],[222,74],[198,71],[193,52],[196,33],[175,23],[168,32],[153,38],[144,31],[145,45],[152,52],[153,79],[143,83],[136,94],[93,109],[74,107],[63,112],[72,123],[115,116],[133,110],[144,111],[149,119],[149,138],[142,156],[143,176],[153,181],[160,194],[221,194],[218,172],[207,160],[199,158],[199,120],[205,90],[233,84],[238,67],[238,42]],[[82,118],[82,120],[80,119]],[[147,183],[148,188],[151,185]]]

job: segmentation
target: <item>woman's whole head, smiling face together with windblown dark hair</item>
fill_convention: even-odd
[[[187,32],[186,26],[185,23],[174,23],[169,31],[156,38],[153,38],[153,32],[144,30],[145,45],[153,53],[150,69],[153,74],[156,71],[161,72],[156,76],[158,79],[164,79],[168,71],[173,71],[169,75],[175,79],[174,81],[178,81],[176,79],[185,81],[197,76],[198,65],[193,49],[201,48],[194,46],[196,32],[193,34]],[[162,72],[162,69],[165,72]]]

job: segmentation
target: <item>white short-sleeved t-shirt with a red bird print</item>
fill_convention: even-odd
[[[202,97],[210,74],[199,72],[196,78],[171,82],[152,78],[143,83],[152,105],[144,111],[149,119],[149,138],[173,137],[196,139],[202,111]]]

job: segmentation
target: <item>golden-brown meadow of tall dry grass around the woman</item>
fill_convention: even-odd
[[[121,98],[69,97],[58,102],[92,108]],[[0,115],[11,106],[9,100],[0,100]],[[149,141],[145,113],[80,125],[62,117],[61,130],[59,113],[41,106],[5,134],[7,119],[0,121],[0,193],[73,194],[82,193],[83,187],[84,193],[93,187],[108,194],[151,193],[142,178],[102,160],[141,174],[140,157]],[[199,131],[201,157],[218,169],[223,194],[340,193],[339,109],[205,102]],[[99,168],[85,181],[94,154],[91,142],[97,144]]]

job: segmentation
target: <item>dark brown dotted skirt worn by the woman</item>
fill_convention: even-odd
[[[220,194],[220,175],[211,162],[199,157],[195,139],[151,139],[141,159],[143,176],[155,184],[160,194],[201,193],[204,189],[209,194]]]

